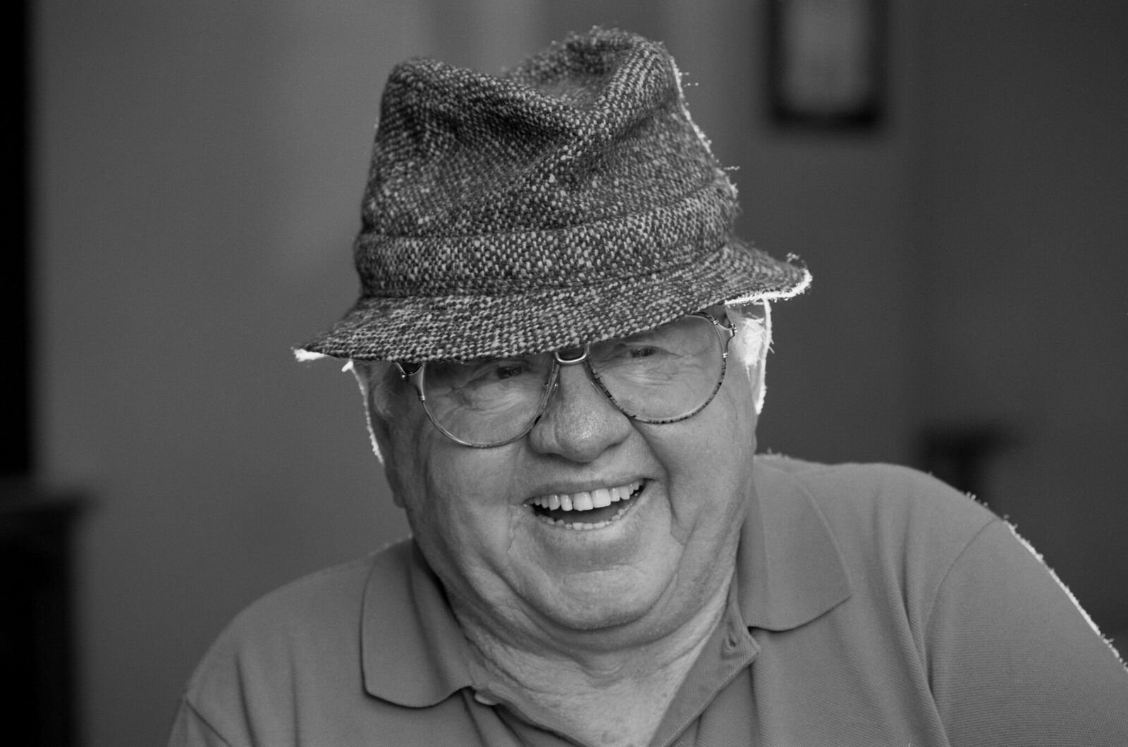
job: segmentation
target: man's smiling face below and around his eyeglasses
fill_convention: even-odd
[[[627,419],[582,366],[563,367],[534,429],[487,449],[440,433],[406,384],[387,416],[371,416],[396,500],[464,619],[535,639],[599,630],[609,643],[613,632],[644,642],[731,577],[756,446],[748,376],[730,360],[705,410],[655,425]],[[582,493],[632,498],[546,511],[565,498],[583,508]]]

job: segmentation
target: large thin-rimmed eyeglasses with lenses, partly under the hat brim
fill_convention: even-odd
[[[532,430],[558,386],[562,366],[583,364],[632,420],[656,424],[693,418],[720,390],[734,334],[700,311],[650,332],[550,353],[396,366],[435,428],[464,446],[491,448]]]

